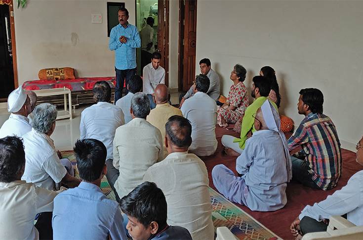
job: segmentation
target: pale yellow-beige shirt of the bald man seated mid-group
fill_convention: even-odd
[[[146,120],[157,127],[161,132],[162,143],[164,146],[164,157],[167,156],[165,149],[165,124],[169,117],[178,115],[183,116],[179,108],[171,106],[169,103],[157,104],[156,108],[150,111],[150,114],[146,117]]]

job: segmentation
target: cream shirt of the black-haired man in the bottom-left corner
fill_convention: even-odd
[[[0,183],[0,239],[39,239],[34,219],[38,213],[53,211],[58,192],[32,183]]]

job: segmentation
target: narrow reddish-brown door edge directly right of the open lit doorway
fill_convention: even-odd
[[[165,69],[165,85],[169,85],[169,0],[158,0],[158,50]]]

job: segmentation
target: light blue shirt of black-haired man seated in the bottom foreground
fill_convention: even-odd
[[[53,239],[126,240],[121,209],[94,184],[81,182],[54,198]]]

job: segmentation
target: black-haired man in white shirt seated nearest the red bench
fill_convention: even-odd
[[[97,139],[107,148],[107,159],[113,158],[115,131],[122,125],[123,113],[120,107],[110,103],[111,87],[106,81],[93,86],[93,99],[96,104],[81,113],[80,139]]]

